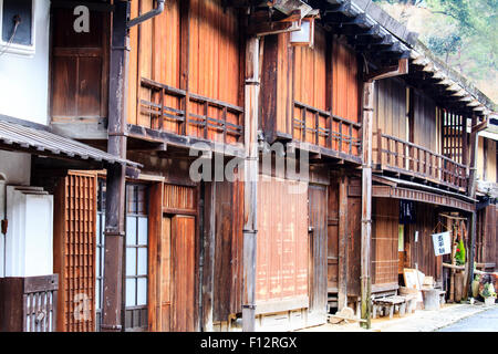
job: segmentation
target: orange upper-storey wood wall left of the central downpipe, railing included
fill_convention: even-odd
[[[132,17],[152,6],[153,0],[132,1]],[[224,132],[214,121],[205,132],[204,122],[208,116],[241,124],[240,113],[205,100],[243,106],[241,38],[238,10],[224,7],[221,0],[168,1],[162,14],[131,31],[127,122],[175,134],[237,142],[240,135]],[[162,97],[144,87],[142,79],[176,92],[166,88]],[[204,98],[199,100],[199,95]],[[153,119],[149,110],[144,110],[143,100],[168,107],[160,123]]]

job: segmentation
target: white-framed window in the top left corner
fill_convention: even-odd
[[[0,55],[34,54],[34,1],[0,0]]]

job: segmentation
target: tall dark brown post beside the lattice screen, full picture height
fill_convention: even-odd
[[[110,58],[108,143],[107,152],[126,158],[126,72],[128,61],[129,14],[127,1],[116,1],[113,13]],[[122,331],[123,242],[125,235],[126,166],[107,168],[105,206],[105,253],[102,326],[104,332]]]

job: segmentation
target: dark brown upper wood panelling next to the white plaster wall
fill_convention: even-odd
[[[107,116],[108,23],[91,11],[90,32],[75,33],[72,9],[52,9],[51,114],[53,121]]]

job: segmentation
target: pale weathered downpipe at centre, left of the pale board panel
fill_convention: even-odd
[[[259,38],[246,43],[246,103],[243,162],[243,298],[242,331],[255,331],[256,317],[256,249],[258,236],[258,98]]]

